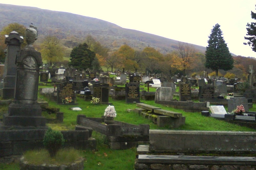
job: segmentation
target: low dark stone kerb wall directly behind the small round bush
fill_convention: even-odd
[[[0,162],[6,157],[22,155],[24,151],[43,148],[47,129],[0,130]],[[61,130],[64,147],[96,149],[96,140],[89,130]]]

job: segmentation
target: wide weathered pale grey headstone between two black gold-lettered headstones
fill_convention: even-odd
[[[158,87],[156,89],[155,94],[155,102],[163,100],[163,101],[172,101],[173,100],[173,93],[171,87]]]

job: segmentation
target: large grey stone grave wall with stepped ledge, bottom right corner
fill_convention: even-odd
[[[255,136],[254,132],[151,129],[150,145],[137,148],[134,169],[255,169],[255,157],[232,156],[255,154]],[[225,156],[192,156],[198,153]]]

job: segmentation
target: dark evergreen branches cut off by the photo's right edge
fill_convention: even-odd
[[[255,5],[256,6],[256,5]],[[251,11],[251,17],[252,19],[256,20],[256,13]],[[248,40],[247,43],[243,43],[245,45],[252,46],[252,50],[256,52],[256,22],[251,22],[251,24],[247,23],[247,34],[249,37],[244,37],[245,40]]]

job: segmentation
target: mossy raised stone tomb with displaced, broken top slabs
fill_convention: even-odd
[[[177,128],[185,125],[185,117],[182,116],[182,113],[163,110],[144,103],[137,103],[136,106],[139,108],[135,108],[134,112],[141,114],[145,118],[157,124],[159,127],[169,126]]]

